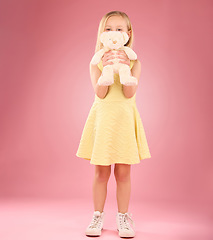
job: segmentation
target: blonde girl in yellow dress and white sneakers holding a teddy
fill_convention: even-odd
[[[125,31],[132,47],[133,30],[124,12],[112,11],[103,16],[98,29],[95,52],[103,48],[100,34],[104,31]],[[141,64],[137,59],[129,60],[123,50],[117,51],[120,62],[127,64],[132,76],[139,81]],[[114,175],[117,183],[116,213],[117,230],[120,237],[134,237],[135,231],[129,224],[134,222],[128,213],[130,200],[130,170],[132,164],[151,158],[143,124],[137,110],[135,96],[137,86],[122,85],[119,74],[114,74],[114,83],[109,86],[98,85],[104,66],[113,64],[112,51],[104,54],[98,65],[90,64],[91,82],[95,92],[94,103],[86,120],[76,156],[90,160],[95,165],[93,181],[94,213],[86,229],[87,236],[100,236],[104,221],[104,204],[111,165],[115,164]]]

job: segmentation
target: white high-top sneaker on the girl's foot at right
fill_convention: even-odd
[[[117,213],[116,214],[116,223],[117,223],[117,230],[119,231],[120,237],[135,237],[135,231],[130,226],[129,221],[131,221],[132,225],[135,226],[130,214],[126,213]]]

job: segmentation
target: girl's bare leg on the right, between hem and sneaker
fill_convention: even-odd
[[[130,179],[131,165],[129,164],[115,164],[114,174],[117,182],[117,204],[118,212],[128,212],[130,193],[131,193],[131,179]]]

